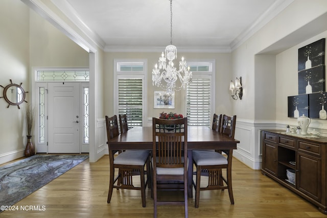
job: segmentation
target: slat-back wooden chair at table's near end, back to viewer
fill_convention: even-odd
[[[188,119],[152,118],[152,196],[154,217],[158,205],[184,205],[188,217]],[[174,181],[174,183],[169,183]],[[183,184],[176,186],[175,182]],[[183,189],[184,201],[157,198],[158,189]]]

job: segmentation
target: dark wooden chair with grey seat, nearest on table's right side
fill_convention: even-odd
[[[236,126],[236,115],[222,115],[220,133],[227,137],[234,138]],[[223,152],[225,155],[222,155]],[[232,184],[231,184],[231,162],[232,149],[221,151],[192,151],[193,163],[196,166],[196,182],[193,181],[195,187],[195,207],[199,207],[200,190],[214,190],[225,188],[228,189],[229,200],[234,204]],[[227,156],[227,158],[225,157]],[[203,169],[207,171],[208,184],[201,187],[201,172]],[[226,169],[226,177],[222,173],[222,169]]]

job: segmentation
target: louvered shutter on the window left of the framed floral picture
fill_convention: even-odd
[[[142,126],[142,79],[118,80],[118,111],[126,114],[128,127]]]

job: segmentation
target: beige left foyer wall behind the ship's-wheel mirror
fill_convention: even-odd
[[[0,1],[0,85],[22,83],[29,90],[29,9],[20,1]],[[0,96],[3,96],[0,87]],[[27,94],[27,101],[30,95]],[[26,104],[23,103],[23,106]],[[7,108],[7,102],[0,99],[0,156],[25,148],[24,107]]]

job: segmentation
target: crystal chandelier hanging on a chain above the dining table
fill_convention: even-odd
[[[161,53],[159,57],[159,65],[155,64],[155,68],[152,70],[152,85],[161,87],[167,90],[168,95],[174,95],[175,90],[180,90],[192,82],[192,72],[190,66],[186,67],[186,61],[182,57],[179,61],[179,70],[174,66],[174,60],[177,58],[177,48],[173,45],[172,40],[173,32],[173,12],[172,12],[172,0],[170,0],[170,45],[167,45],[165,53]],[[166,55],[166,57],[165,57]],[[167,61],[168,60],[168,61]],[[168,62],[168,63],[167,63]],[[181,82],[181,86],[176,88],[177,78]],[[167,84],[162,84],[164,80]]]

